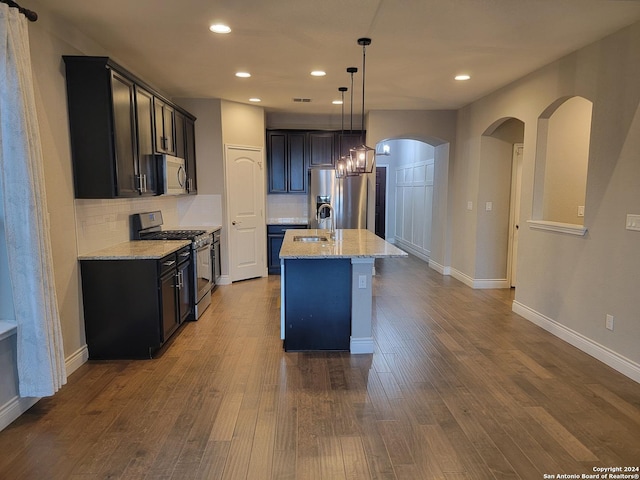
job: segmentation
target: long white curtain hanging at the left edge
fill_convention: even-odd
[[[66,383],[27,20],[0,4],[0,198],[21,397]]]

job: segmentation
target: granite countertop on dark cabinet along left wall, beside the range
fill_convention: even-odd
[[[159,260],[187,245],[191,240],[133,240],[79,255],[78,260]]]

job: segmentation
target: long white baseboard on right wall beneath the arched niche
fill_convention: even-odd
[[[535,323],[540,328],[545,329],[549,333],[564,340],[570,345],[573,345],[579,350],[582,350],[584,353],[600,360],[605,365],[610,366],[626,377],[640,383],[640,364],[623,357],[613,350],[594,342],[581,333],[578,333],[575,330],[572,330],[561,323],[536,312],[520,302],[514,300],[511,309],[521,317]]]

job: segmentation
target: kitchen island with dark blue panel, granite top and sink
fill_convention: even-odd
[[[288,230],[280,249],[281,338],[287,351],[373,353],[376,258],[407,254],[364,229]]]

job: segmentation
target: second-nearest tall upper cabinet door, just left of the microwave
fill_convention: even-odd
[[[158,193],[157,162],[153,150],[153,95],[136,85],[138,124],[138,190],[142,195]]]

